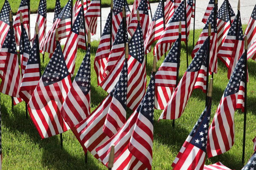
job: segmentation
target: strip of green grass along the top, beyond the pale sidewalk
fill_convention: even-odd
[[[40,0],[30,0],[30,10],[31,13],[37,13],[38,5]],[[60,0],[61,8],[63,8],[68,0]],[[85,0],[84,0],[85,1]],[[75,4],[76,0],[73,0],[73,4]],[[128,4],[131,5],[134,3],[134,0],[127,0]],[[150,0],[151,3],[158,2],[158,0]],[[2,8],[4,0],[0,2],[0,8]],[[17,10],[20,6],[20,0],[9,0],[10,6],[12,8],[13,14],[17,13]],[[111,0],[102,0],[102,7],[109,7]],[[53,12],[55,8],[55,0],[47,0],[47,12]]]

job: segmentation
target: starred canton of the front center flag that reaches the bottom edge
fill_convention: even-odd
[[[150,82],[147,88],[147,92],[143,98],[143,102],[140,103],[140,110],[137,110],[137,112],[140,112],[145,116],[152,124],[154,119],[154,89],[155,89],[155,78],[151,74]],[[139,109],[139,108],[138,108]]]

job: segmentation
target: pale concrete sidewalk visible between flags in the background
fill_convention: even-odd
[[[223,3],[223,1],[224,0],[218,0],[218,8],[221,7],[221,4]],[[233,11],[235,12],[235,14],[237,14],[238,0],[229,0],[229,2],[233,8]],[[204,12],[205,12],[205,9],[207,8],[208,3],[209,3],[209,0],[196,0],[195,29],[200,29],[200,28],[204,27],[204,23],[202,23],[201,20],[204,16]],[[242,24],[248,23],[250,15],[255,6],[255,3],[256,2],[254,2],[254,0],[241,0],[240,12],[241,12]],[[154,16],[154,13],[157,9],[158,3],[151,3],[150,5],[151,5],[152,15]],[[129,7],[131,10],[132,6],[129,6]],[[102,8],[102,31],[104,29],[109,12],[110,12],[110,8]],[[37,16],[37,14],[31,14],[31,17],[30,17],[31,35],[34,35],[36,16]],[[15,17],[16,16],[14,16],[14,18]],[[52,27],[53,17],[54,17],[53,12],[47,13],[47,31],[49,31],[49,29]],[[151,20],[150,12],[149,12],[149,19]],[[194,22],[194,19],[192,18],[190,29],[193,29],[193,22]],[[91,36],[91,39],[92,40],[100,40],[100,17],[98,17],[97,33],[96,33],[96,35]],[[65,42],[66,42],[65,40],[61,40],[62,45],[64,45]]]

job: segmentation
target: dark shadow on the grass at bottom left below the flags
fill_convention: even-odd
[[[24,105],[24,103],[20,103],[18,105]],[[46,167],[47,169],[55,169],[55,170],[81,170],[81,169],[97,169],[98,165],[96,165],[92,157],[88,156],[88,163],[84,163],[84,156],[76,157],[70,155],[70,153],[65,150],[64,148],[60,147],[60,140],[59,135],[52,136],[47,139],[41,139],[41,137],[38,134],[38,131],[36,130],[34,124],[32,123],[31,119],[25,118],[25,110],[17,111],[19,108],[25,108],[21,106],[15,106],[14,108],[14,115],[12,113],[8,113],[8,108],[2,103],[1,110],[2,110],[2,124],[4,127],[7,127],[10,131],[12,131],[15,134],[26,133],[30,141],[35,144],[38,144],[38,146],[43,150],[41,158],[41,164],[43,167]],[[66,133],[63,134],[64,138],[64,145],[65,145],[65,136]],[[74,136],[73,136],[74,137]],[[76,138],[74,137],[74,140]],[[67,144],[68,145],[68,144]],[[4,145],[3,145],[4,149]],[[5,150],[5,154],[8,154],[8,150]],[[82,155],[83,151],[81,149]]]

